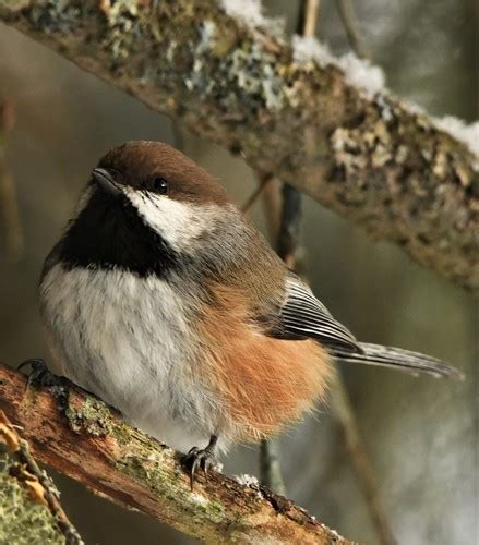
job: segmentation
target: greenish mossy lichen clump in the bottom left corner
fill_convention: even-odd
[[[12,475],[17,462],[0,457],[0,543],[32,545],[64,544],[49,509],[32,499]]]

